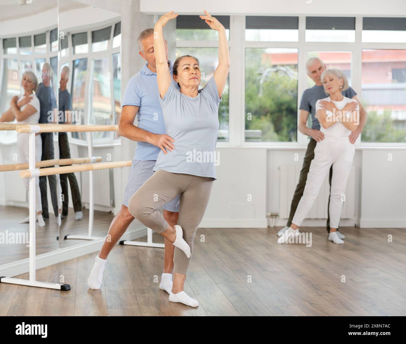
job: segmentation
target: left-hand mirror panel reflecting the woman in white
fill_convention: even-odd
[[[52,123],[57,107],[58,1],[0,3],[0,116],[5,123]],[[16,97],[16,98],[14,98]],[[17,99],[15,105],[11,105]],[[25,103],[25,101],[27,101]],[[27,109],[27,111],[26,111]],[[18,122],[17,122],[18,120]],[[29,257],[27,133],[0,131],[0,265]],[[58,159],[58,135],[36,135],[36,160]],[[53,167],[55,161],[44,163]],[[21,167],[21,166],[20,166]],[[8,171],[4,171],[8,169]],[[58,249],[59,176],[41,176],[36,187],[36,254]]]

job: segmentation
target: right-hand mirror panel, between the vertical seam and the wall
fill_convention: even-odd
[[[59,116],[66,115],[65,123],[76,125],[118,124],[121,113],[120,14],[68,0],[60,2],[58,12]],[[65,113],[68,110],[71,112]],[[97,162],[119,160],[114,159],[114,150],[117,151],[120,144],[118,132],[59,135],[63,158],[101,157]],[[64,200],[60,248],[106,236],[114,218],[113,176],[112,169],[61,174]]]

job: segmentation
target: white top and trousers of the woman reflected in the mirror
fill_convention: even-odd
[[[30,117],[26,118],[23,121],[18,121],[17,123],[21,123],[21,124],[37,124],[39,122],[39,115],[40,115],[40,106],[39,106],[39,99],[37,98],[37,96],[35,94],[30,95],[30,97],[32,96],[31,101],[28,103],[30,105],[32,105],[33,107],[35,107],[35,110],[37,110],[37,112],[35,112],[34,114],[32,114]],[[17,103],[23,99],[24,96],[20,96],[18,98]],[[25,107],[27,105],[23,105],[20,108],[20,111],[23,112]],[[29,160],[29,143],[28,143],[28,136],[30,134],[28,133],[18,133],[17,134],[17,148],[18,148],[18,162],[19,163],[27,163]],[[42,140],[41,140],[41,134],[35,135],[35,161],[41,161],[41,157],[42,157]],[[29,182],[29,178],[23,178],[25,187],[27,190],[30,189],[30,182]],[[36,211],[42,211],[42,203],[41,203],[41,191],[39,190],[39,177],[35,178],[35,208]]]

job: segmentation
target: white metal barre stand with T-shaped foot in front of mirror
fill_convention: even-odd
[[[41,127],[39,125],[28,125],[30,127],[29,135],[29,169],[31,172],[30,177],[30,279],[0,277],[0,282],[20,284],[23,286],[33,286],[40,288],[60,289],[67,291],[71,289],[69,284],[49,283],[49,282],[37,282],[35,280],[35,223],[36,208],[35,208],[35,181],[39,178],[39,169],[35,168],[35,133],[39,133]]]

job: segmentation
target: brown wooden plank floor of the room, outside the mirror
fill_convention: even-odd
[[[343,228],[345,243],[336,245],[324,228],[301,228],[312,230],[311,247],[277,244],[279,229],[199,229],[185,283],[197,308],[169,302],[159,289],[163,249],[118,245],[101,289],[87,286],[94,252],[37,270],[39,281],[59,282],[63,275],[68,292],[0,283],[0,315],[406,314],[405,229]]]

